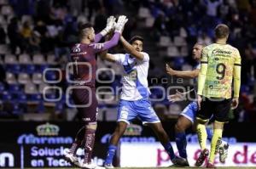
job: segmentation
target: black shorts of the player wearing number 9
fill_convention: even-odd
[[[208,99],[203,98],[201,110],[196,117],[202,120],[209,120],[212,115],[214,121],[228,122],[231,107],[231,99]]]

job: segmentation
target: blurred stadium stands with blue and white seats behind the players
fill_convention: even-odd
[[[123,32],[126,39],[144,37],[143,50],[150,56],[148,82],[154,87],[152,104],[163,121],[177,118],[189,101],[170,103],[168,93],[156,87],[173,87],[175,93],[175,86],[195,83],[167,76],[166,63],[175,70],[193,70],[195,42],[210,44],[214,27],[229,25],[229,43],[239,49],[242,59],[241,104],[230,112],[230,119],[256,121],[256,0],[0,0],[1,119],[76,118],[76,109],[67,106],[73,101],[65,94],[69,48],[79,42],[79,25],[90,22],[99,32],[109,15],[119,14],[129,18]],[[124,50],[119,44],[110,52]],[[104,82],[97,82],[97,87],[105,87],[97,94],[99,121],[115,121],[119,92],[111,96],[106,87],[121,87],[122,69],[100,58],[97,62],[99,69],[115,71],[115,75],[110,70],[99,72]],[[108,82],[111,76],[113,82]]]

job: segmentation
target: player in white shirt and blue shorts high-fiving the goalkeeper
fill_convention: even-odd
[[[130,122],[136,118],[151,127],[166,149],[173,164],[183,166],[185,159],[177,157],[172,149],[172,144],[162,127],[160,119],[155,114],[148,98],[148,66],[149,56],[143,51],[143,37],[132,37],[130,43],[124,37],[120,38],[124,48],[129,54],[102,54],[102,59],[123,65],[125,75],[122,78],[122,93],[119,102],[118,122],[108,146],[108,155],[104,166],[113,168],[113,155],[121,138]],[[150,160],[150,159],[148,159]],[[139,162],[139,161],[138,161]]]

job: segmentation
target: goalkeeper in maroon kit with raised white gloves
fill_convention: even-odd
[[[73,101],[79,111],[79,116],[84,122],[79,129],[72,147],[65,156],[67,161],[82,168],[102,168],[91,162],[92,150],[96,132],[96,54],[108,48],[113,48],[119,42],[119,37],[127,22],[126,16],[119,16],[115,23],[115,18],[110,16],[106,28],[95,35],[95,31],[90,24],[81,26],[80,42],[75,44],[71,51],[73,65]],[[114,30],[114,35],[108,42],[98,43],[102,37]],[[76,151],[80,145],[84,146],[84,161],[79,163]]]

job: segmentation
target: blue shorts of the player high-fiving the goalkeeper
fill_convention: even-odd
[[[143,124],[160,122],[148,99],[138,99],[136,101],[120,100],[117,121],[125,121],[130,124],[135,118],[143,121]]]

